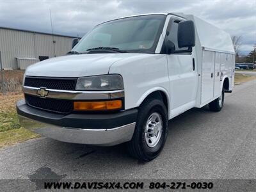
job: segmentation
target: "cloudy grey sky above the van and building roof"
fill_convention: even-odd
[[[240,54],[256,43],[256,0],[0,0],[0,26],[83,36],[93,26],[141,13],[193,14],[241,36]]]

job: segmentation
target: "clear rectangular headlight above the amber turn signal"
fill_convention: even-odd
[[[120,75],[79,77],[76,83],[76,90],[109,91],[122,89],[124,89],[124,83]]]

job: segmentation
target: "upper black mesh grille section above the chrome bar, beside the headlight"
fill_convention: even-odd
[[[45,87],[54,90],[76,90],[77,78],[26,77],[24,86]]]

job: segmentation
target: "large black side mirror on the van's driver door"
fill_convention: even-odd
[[[195,25],[192,20],[179,22],[178,45],[179,48],[195,46]]]

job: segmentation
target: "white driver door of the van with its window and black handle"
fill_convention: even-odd
[[[166,40],[175,51],[184,50],[178,46],[178,25],[182,20],[172,17],[166,31]],[[177,116],[195,106],[198,74],[193,54],[188,52],[167,54],[170,79],[171,115]]]

